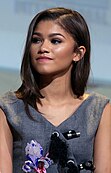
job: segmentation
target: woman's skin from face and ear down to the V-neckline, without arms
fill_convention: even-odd
[[[67,119],[83,101],[77,99],[75,102],[70,84],[72,63],[80,60],[86,51],[84,46],[79,47],[81,54],[74,51],[75,45],[73,38],[56,22],[41,21],[35,28],[31,62],[40,73],[41,93],[45,96],[41,100],[43,106],[38,103],[37,106],[55,126]],[[39,59],[44,56],[50,59]]]

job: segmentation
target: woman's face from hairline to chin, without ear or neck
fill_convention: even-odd
[[[41,21],[32,36],[31,63],[42,75],[61,75],[72,68],[76,56],[73,38],[54,21]]]

